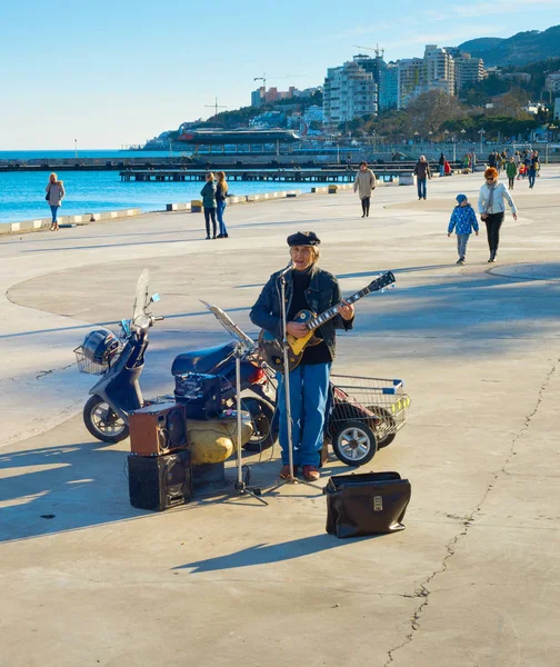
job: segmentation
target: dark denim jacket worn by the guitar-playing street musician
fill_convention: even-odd
[[[278,340],[282,340],[282,313],[280,310],[280,281],[279,275],[281,271],[272,273],[267,285],[257,299],[257,302],[251,308],[251,321],[266,329]],[[289,312],[292,299],[293,283],[291,280],[291,271],[286,276],[286,312]],[[342,296],[340,287],[332,273],[323,271],[317,265],[311,269],[311,280],[309,288],[306,290],[306,298],[309,309],[316,315],[321,315],[331,306],[340,303]],[[332,319],[319,327],[319,332],[322,336],[332,359],[336,356],[336,329],[349,330],[353,327],[353,319],[344,320],[340,315],[336,315]]]

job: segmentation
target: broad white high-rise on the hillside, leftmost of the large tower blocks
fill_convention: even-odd
[[[377,113],[373,74],[356,61],[327,70],[323,86],[324,122],[338,125],[358,116]]]

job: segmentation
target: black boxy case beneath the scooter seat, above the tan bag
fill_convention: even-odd
[[[216,419],[222,412],[221,378],[200,372],[176,377],[174,397],[187,419]]]

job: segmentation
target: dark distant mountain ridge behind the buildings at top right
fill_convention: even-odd
[[[560,58],[560,26],[547,30],[518,32],[507,39],[482,37],[459,44],[461,51],[482,58],[484,67],[523,66],[538,60]]]

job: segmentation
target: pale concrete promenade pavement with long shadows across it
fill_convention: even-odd
[[[497,263],[482,229],[457,266],[453,198],[481,182],[434,179],[427,201],[388,185],[364,220],[349,191],[231,207],[227,240],[190,212],[0,238],[0,667],[559,664],[560,167],[516,183]],[[128,441],[89,437],[96,378],[72,349],[130,317],[149,267],[167,319],[142,387],[169,392],[176,354],[227,340],[199,299],[256,332],[250,306],[308,229],[343,293],[398,278],[357,305],[333,371],[406,381],[409,424],[364,469],[411,480],[407,529],[328,536],[322,484],[272,488],[278,449],[251,459],[269,507],[131,508]]]

